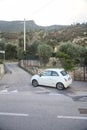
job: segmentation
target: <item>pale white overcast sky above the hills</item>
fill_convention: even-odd
[[[87,0],[0,0],[0,20],[34,20],[37,25],[87,22]]]

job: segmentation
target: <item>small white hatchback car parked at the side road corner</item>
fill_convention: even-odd
[[[72,83],[72,78],[64,69],[46,69],[40,74],[33,75],[31,83],[34,87],[38,85],[52,86],[59,90],[67,88]]]

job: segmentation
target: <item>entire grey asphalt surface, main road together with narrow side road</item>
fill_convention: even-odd
[[[31,75],[6,64],[0,80],[0,130],[87,130],[86,83],[64,90],[33,88]]]

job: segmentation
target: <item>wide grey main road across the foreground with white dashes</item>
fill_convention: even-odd
[[[87,116],[64,95],[0,95],[0,130],[86,130]]]

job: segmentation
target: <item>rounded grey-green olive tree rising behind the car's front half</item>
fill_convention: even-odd
[[[50,45],[41,44],[38,46],[38,55],[40,57],[41,64],[44,66],[49,62],[49,58],[51,57],[53,49]]]

